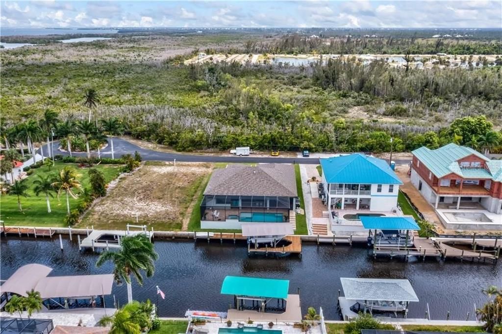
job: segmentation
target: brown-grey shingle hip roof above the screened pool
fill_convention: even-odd
[[[295,169],[286,164],[228,165],[213,172],[204,195],[296,197]]]

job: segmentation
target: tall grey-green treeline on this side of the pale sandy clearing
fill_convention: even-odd
[[[369,65],[328,59],[314,66],[313,82],[324,89],[365,92],[387,100],[446,100],[460,96],[502,99],[502,69],[466,71],[460,68],[402,69],[384,60]]]

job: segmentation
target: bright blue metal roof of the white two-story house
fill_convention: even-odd
[[[354,153],[319,160],[328,183],[403,184],[382,159]]]

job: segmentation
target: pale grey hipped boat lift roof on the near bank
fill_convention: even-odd
[[[340,278],[349,300],[418,301],[407,279]]]

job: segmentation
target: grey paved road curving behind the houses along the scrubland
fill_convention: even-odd
[[[108,140],[109,144],[109,140]],[[69,155],[67,152],[62,152],[58,150],[59,141],[54,141],[54,153],[61,155]],[[167,153],[158,152],[153,150],[148,150],[139,147],[131,142],[120,138],[113,139],[113,151],[115,158],[119,158],[122,154],[131,153],[138,151],[143,160],[154,160],[154,161],[182,161],[182,162],[252,162],[252,163],[300,163],[300,164],[319,164],[319,159],[317,158],[289,158],[289,157],[257,157],[257,156],[216,156],[216,155],[201,155],[201,154],[183,154],[183,153]],[[40,152],[40,150],[39,150]],[[47,145],[44,146],[44,153],[47,155]],[[92,153],[94,156],[97,155],[96,152]],[[85,152],[72,153],[73,156],[85,156]],[[105,149],[101,151],[101,157],[111,158],[111,146],[108,145]],[[397,164],[407,164],[410,160],[395,160]]]

